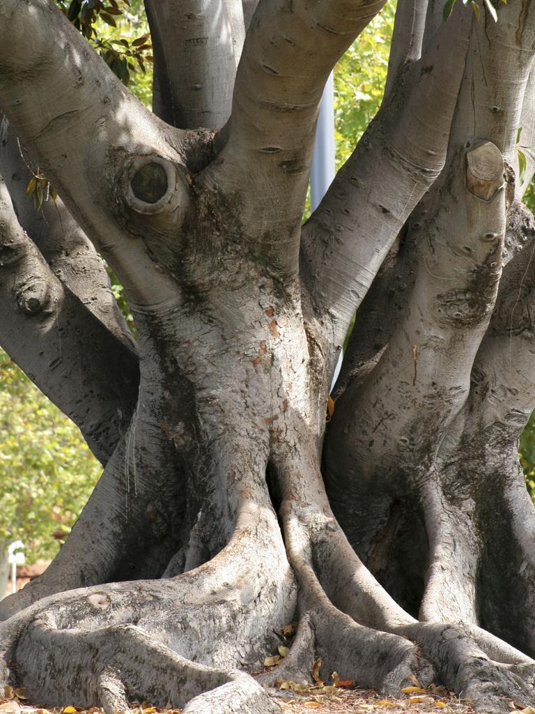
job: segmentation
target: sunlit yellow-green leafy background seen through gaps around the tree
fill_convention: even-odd
[[[151,46],[141,0],[56,2],[111,70],[150,107]],[[394,9],[389,2],[335,68],[337,168],[379,109]],[[34,183],[39,186],[39,181]],[[525,200],[534,211],[532,187]],[[39,201],[36,205],[39,208]],[[113,273],[111,283],[132,326],[123,288]],[[520,453],[527,486],[535,496],[535,417],[522,435]],[[0,543],[23,540],[29,562],[54,557],[100,473],[78,428],[0,351]]]

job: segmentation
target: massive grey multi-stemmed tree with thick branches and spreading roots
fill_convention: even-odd
[[[0,684],[265,714],[262,685],[320,657],[387,693],[535,704],[534,10],[460,5],[399,3],[379,114],[302,228],[323,84],[382,2],[147,0],[155,114],[49,0],[0,4],[0,106],[63,198],[29,212],[4,144],[0,342],[106,462],[0,604]]]

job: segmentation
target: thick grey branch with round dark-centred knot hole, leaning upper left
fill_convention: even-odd
[[[0,106],[131,304],[173,303],[162,253],[188,208],[185,142],[192,136],[145,109],[48,0],[1,4],[0,68]],[[151,176],[156,193],[149,195]],[[147,226],[164,215],[150,253]]]

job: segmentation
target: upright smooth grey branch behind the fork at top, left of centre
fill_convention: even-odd
[[[180,129],[220,129],[230,116],[245,36],[236,0],[145,0],[155,50],[153,109]]]

